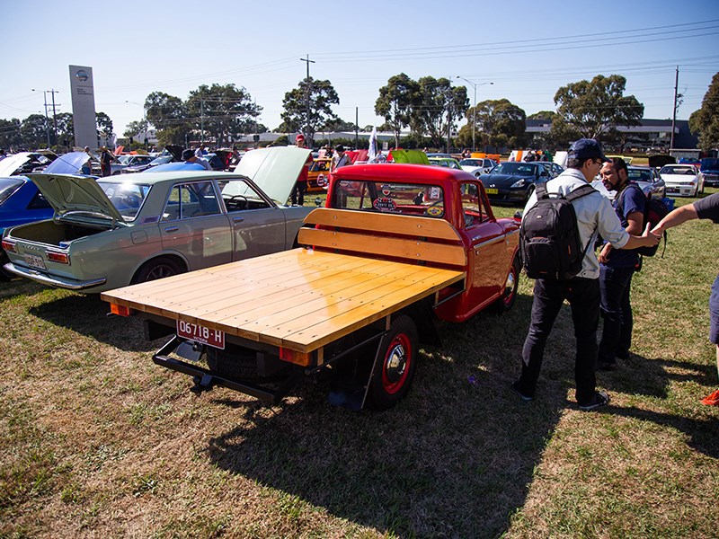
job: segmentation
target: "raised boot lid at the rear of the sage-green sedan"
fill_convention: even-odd
[[[58,216],[78,211],[108,216],[118,223],[125,222],[118,209],[107,198],[105,191],[92,177],[31,174],[30,178]]]

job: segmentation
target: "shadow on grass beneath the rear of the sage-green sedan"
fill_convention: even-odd
[[[142,321],[137,317],[108,316],[110,305],[99,294],[61,297],[30,308],[30,314],[57,326],[129,352],[148,352],[156,342],[143,337]]]

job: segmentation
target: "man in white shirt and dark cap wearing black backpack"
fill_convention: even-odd
[[[512,387],[525,401],[533,400],[546,340],[566,299],[572,309],[577,346],[575,397],[581,410],[593,411],[609,402],[607,393],[596,391],[599,262],[593,243],[601,234],[615,248],[635,249],[656,245],[660,236],[648,229],[641,236],[628,234],[609,200],[590,188],[589,182],[608,162],[596,140],[577,140],[568,157],[566,171],[546,184],[537,184],[522,218],[523,265],[528,276],[537,280],[521,375]],[[573,219],[567,220],[567,215]],[[547,225],[554,225],[555,230],[543,233],[541,227]]]

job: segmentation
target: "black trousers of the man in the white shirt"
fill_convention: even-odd
[[[599,279],[575,277],[568,281],[538,278],[534,285],[532,322],[522,349],[519,391],[534,396],[542,368],[546,340],[552,331],[564,300],[572,308],[577,355],[574,360],[575,397],[580,404],[590,402],[597,384],[597,326],[599,325]]]

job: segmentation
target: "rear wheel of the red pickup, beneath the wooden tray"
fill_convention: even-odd
[[[388,410],[404,398],[414,378],[418,343],[412,318],[398,316],[379,345],[379,358],[369,380],[368,408]]]

